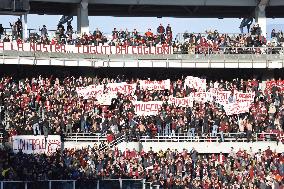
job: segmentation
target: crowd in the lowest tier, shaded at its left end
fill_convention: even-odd
[[[80,150],[65,149],[50,156],[0,150],[0,180],[78,180],[86,185],[87,181],[103,179],[145,179],[162,189],[282,189],[284,186],[284,154],[269,147],[257,152],[231,148],[229,154],[199,154],[194,148],[189,150],[100,151],[95,145]],[[116,187],[112,184],[109,188]]]

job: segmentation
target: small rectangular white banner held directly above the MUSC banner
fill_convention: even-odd
[[[162,81],[149,81],[149,80],[140,80],[140,88],[144,90],[170,90],[171,89],[171,80],[162,80]]]

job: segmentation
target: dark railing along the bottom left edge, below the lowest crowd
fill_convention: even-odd
[[[157,189],[144,179],[0,181],[0,189]]]

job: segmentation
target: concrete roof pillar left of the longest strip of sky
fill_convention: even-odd
[[[89,34],[89,9],[88,0],[81,0],[77,12],[77,31],[80,34]]]

